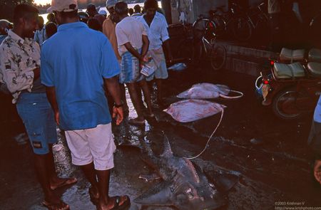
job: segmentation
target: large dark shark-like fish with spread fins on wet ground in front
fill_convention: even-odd
[[[160,157],[156,157],[151,149],[146,153],[147,158],[142,159],[158,175],[153,179],[163,179],[163,182],[134,200],[143,206],[173,206],[180,210],[218,209],[227,204],[225,192],[239,179],[238,175],[216,173],[218,176],[210,182],[203,170],[190,159],[173,154],[167,137],[164,137]],[[140,178],[148,181],[151,176],[141,175]]]

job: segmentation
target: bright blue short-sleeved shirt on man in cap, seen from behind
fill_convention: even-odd
[[[111,121],[103,78],[118,73],[111,43],[103,33],[89,29],[85,23],[59,26],[41,49],[41,82],[56,88],[61,126],[66,130]]]

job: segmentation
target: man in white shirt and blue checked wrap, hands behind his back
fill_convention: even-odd
[[[144,99],[148,106],[148,115],[153,116],[151,110],[151,94],[144,76],[141,74],[143,63],[148,61],[146,57],[149,41],[143,23],[128,16],[128,5],[126,2],[119,1],[115,5],[116,14],[121,20],[116,25],[116,37],[118,52],[121,56],[121,74],[119,82],[126,83],[129,95],[136,109],[138,117],[128,120],[133,125],[143,125],[145,118],[141,109],[141,99],[138,96],[138,85],[142,88]]]

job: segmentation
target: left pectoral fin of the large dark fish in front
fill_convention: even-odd
[[[161,182],[145,191],[141,196],[138,196],[134,201],[137,204],[147,206],[171,206],[172,191],[170,191],[170,184],[168,182]]]

